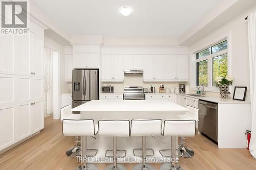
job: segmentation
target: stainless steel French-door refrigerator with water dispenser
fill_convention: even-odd
[[[99,70],[73,69],[72,89],[73,108],[91,100],[99,100]]]

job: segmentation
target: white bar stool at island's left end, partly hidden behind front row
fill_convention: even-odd
[[[60,109],[60,121],[62,122],[63,119],[80,119],[80,114],[72,114],[71,111],[71,105],[64,106]],[[78,136],[75,137],[76,144],[74,147],[71,147],[66,151],[66,155],[68,157],[75,157],[79,150],[81,150],[81,147],[78,145]]]

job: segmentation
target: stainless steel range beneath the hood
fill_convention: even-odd
[[[123,100],[145,100],[142,86],[124,86]]]

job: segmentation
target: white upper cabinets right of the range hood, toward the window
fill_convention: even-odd
[[[188,81],[188,55],[144,56],[144,81]]]

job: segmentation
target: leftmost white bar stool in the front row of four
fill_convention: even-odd
[[[96,125],[97,126],[97,125]],[[95,136],[95,125],[92,119],[63,119],[62,121],[62,133],[64,136],[80,136],[81,142],[83,143],[83,150],[81,156],[76,155],[78,160],[81,161],[82,165],[76,169],[97,169],[96,166],[87,165],[87,157],[96,156],[97,149],[87,149],[87,136]],[[84,137],[84,140],[83,140]],[[95,151],[94,155],[87,155],[87,151]]]

